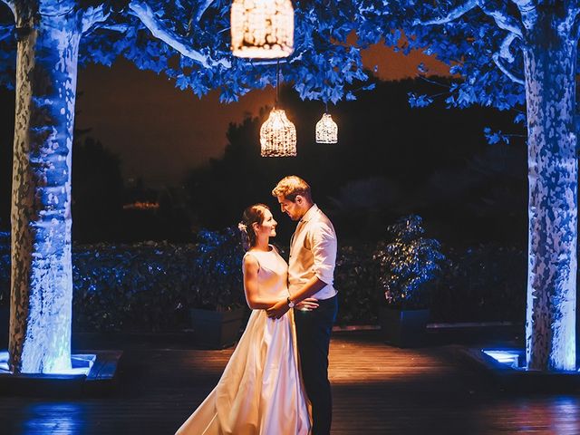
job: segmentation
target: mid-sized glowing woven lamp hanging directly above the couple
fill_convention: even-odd
[[[295,157],[296,128],[285,111],[272,109],[260,128],[260,145],[262,157]]]

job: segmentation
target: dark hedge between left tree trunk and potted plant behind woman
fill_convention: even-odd
[[[99,244],[73,250],[75,330],[184,327],[185,297],[196,287],[195,245]]]

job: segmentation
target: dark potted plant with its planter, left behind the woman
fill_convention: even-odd
[[[192,328],[198,344],[221,349],[237,342],[246,318],[244,250],[234,227],[201,230],[198,239],[196,284],[188,301]]]

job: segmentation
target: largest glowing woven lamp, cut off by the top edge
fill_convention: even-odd
[[[234,0],[231,50],[237,57],[276,59],[294,51],[291,0]]]

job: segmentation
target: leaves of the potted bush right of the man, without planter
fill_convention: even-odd
[[[377,284],[387,304],[404,309],[429,306],[430,289],[445,256],[440,242],[422,237],[421,218],[410,215],[387,227],[391,239],[373,254],[377,262]]]

